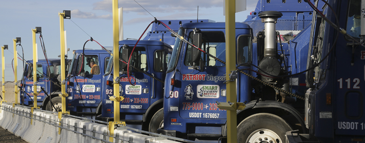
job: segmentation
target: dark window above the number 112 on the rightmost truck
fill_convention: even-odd
[[[361,1],[350,0],[348,5],[346,31],[355,38],[360,38],[361,32]]]

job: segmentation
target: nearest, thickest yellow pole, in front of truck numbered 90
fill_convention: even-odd
[[[231,71],[235,70],[235,0],[226,0],[226,79],[229,78]],[[236,103],[235,82],[227,82],[227,102]],[[227,110],[227,141],[237,142],[237,114],[236,106],[234,110]]]

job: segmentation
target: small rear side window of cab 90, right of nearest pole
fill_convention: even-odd
[[[237,64],[251,63],[251,36],[240,35],[237,40]]]

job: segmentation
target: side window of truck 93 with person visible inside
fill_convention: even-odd
[[[78,59],[78,70],[76,71],[77,75],[99,75],[100,67],[99,67],[99,58],[98,56],[79,56]]]

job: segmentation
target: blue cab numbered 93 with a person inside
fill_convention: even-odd
[[[105,50],[77,50],[67,75],[66,110],[95,118],[101,114],[102,81],[110,54]],[[57,100],[57,101],[56,101]],[[61,103],[61,98],[54,103]]]

